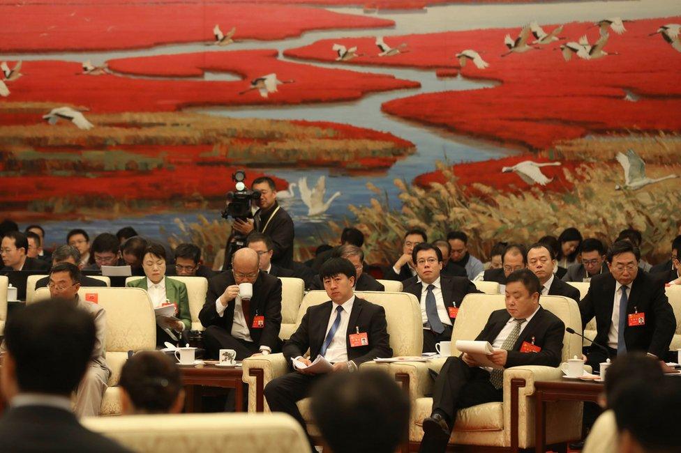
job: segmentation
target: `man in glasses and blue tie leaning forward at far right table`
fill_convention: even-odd
[[[664,293],[664,282],[638,267],[641,251],[627,240],[608,249],[610,273],[591,279],[579,311],[582,325],[596,317],[594,343],[608,353],[591,348],[587,363],[599,363],[627,351],[643,351],[664,359],[676,329],[674,312]]]

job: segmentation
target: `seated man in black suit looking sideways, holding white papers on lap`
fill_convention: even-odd
[[[530,270],[509,275],[506,309],[492,312],[476,338],[492,344],[495,351],[487,357],[495,368],[482,367],[466,353],[447,359],[435,379],[433,410],[424,420],[421,452],[444,452],[458,409],[502,401],[505,368],[560,364],[565,325],[539,305],[540,291],[539,279]]]

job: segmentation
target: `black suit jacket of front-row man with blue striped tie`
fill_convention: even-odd
[[[291,359],[303,355],[308,348],[310,348],[310,360],[315,360],[319,355],[324,337],[327,335],[332,307],[333,302],[329,300],[308,308],[298,330],[284,344],[282,352],[291,369]],[[368,333],[369,344],[367,346],[350,347],[350,335],[357,331],[355,328],[359,328],[359,333]],[[364,299],[354,298],[345,334],[347,360],[352,360],[359,367],[360,364],[377,357],[392,357],[393,350],[390,348],[389,339],[383,307]]]

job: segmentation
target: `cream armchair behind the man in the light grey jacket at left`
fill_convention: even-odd
[[[156,348],[156,316],[149,294],[140,288],[81,288],[78,295],[106,310],[106,360],[111,376],[102,400],[101,415],[121,413],[118,385],[128,351]],[[38,288],[33,302],[50,297],[50,290]],[[28,303],[28,302],[27,302]]]

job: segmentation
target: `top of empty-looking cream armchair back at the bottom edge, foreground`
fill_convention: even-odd
[[[310,452],[303,429],[285,414],[124,415],[81,422],[140,453]]]

